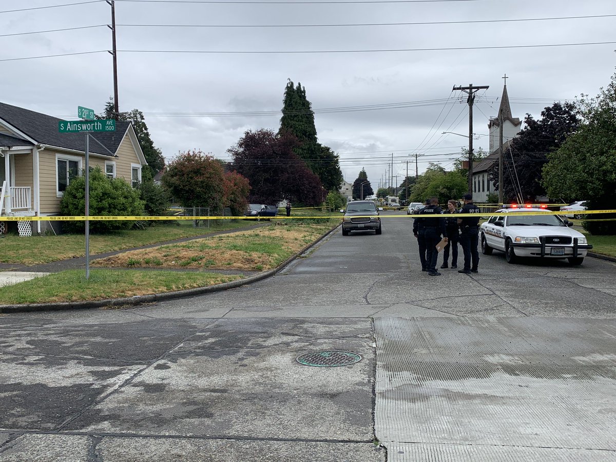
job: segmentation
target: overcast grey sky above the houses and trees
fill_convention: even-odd
[[[62,4],[74,5],[40,8]],[[144,113],[168,161],[193,148],[229,159],[245,131],[277,131],[291,79],[345,179],[365,168],[375,191],[392,154],[395,185],[407,165],[415,173],[415,153],[421,173],[450,168],[468,146],[442,135],[468,134],[466,94],[453,86],[490,86],[473,111],[474,148],[487,150],[503,75],[513,116],[538,118],[555,100],[598,94],[616,65],[614,0],[116,0],[115,14],[120,110]],[[0,100],[67,120],[78,105],[102,111],[110,23],[103,0],[0,0]],[[73,30],[33,33],[56,29]],[[21,59],[83,52],[94,53]]]

